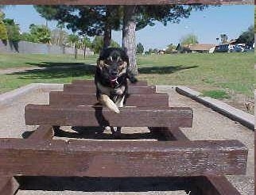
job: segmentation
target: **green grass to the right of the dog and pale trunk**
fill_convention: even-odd
[[[256,83],[254,63],[254,52],[138,57],[140,78],[151,83],[213,87],[250,97]]]

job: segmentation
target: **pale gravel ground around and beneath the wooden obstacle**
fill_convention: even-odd
[[[0,107],[0,115],[2,116],[0,117],[0,137],[21,138],[27,136],[30,131],[35,130],[35,126],[26,126],[24,121],[24,107],[29,103],[48,104],[48,93],[36,91],[31,94],[26,94],[10,105]],[[253,195],[254,132],[227,117],[223,117],[223,115],[216,113],[204,105],[200,105],[188,97],[177,94],[174,89],[169,91],[169,105],[192,107],[194,112],[193,127],[181,129],[190,140],[240,140],[248,147],[249,156],[246,175],[227,176],[227,179],[239,189],[242,195]],[[95,136],[94,132],[87,132],[81,136],[77,134],[77,132],[79,132],[77,128],[71,129],[67,127],[62,129],[68,132],[70,139],[91,139]],[[147,128],[123,128],[122,132],[126,134],[126,136],[122,136],[124,140],[153,140],[153,136],[149,134]],[[106,137],[111,138],[109,132],[105,133],[105,138]],[[55,137],[54,139],[66,138]],[[103,137],[98,137],[97,139],[103,139]],[[101,178],[97,178],[88,181],[86,178],[72,178],[69,180],[60,180],[58,178],[41,178],[41,180],[35,180],[34,178],[30,178],[27,182],[25,186],[21,186],[21,189],[17,192],[18,195],[186,194],[183,190],[171,190],[172,188],[169,187],[169,182],[164,179],[157,179],[157,181],[105,181]],[[61,182],[61,184],[58,182]],[[60,188],[58,185],[60,185]],[[138,192],[136,190],[138,185],[144,190]],[[128,192],[129,190],[131,192]]]

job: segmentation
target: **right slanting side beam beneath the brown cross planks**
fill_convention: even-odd
[[[166,140],[183,140],[188,138],[179,128],[153,128],[155,132],[161,132]],[[191,178],[192,195],[241,195],[225,176],[201,176]]]

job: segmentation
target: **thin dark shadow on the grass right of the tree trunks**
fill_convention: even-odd
[[[172,74],[176,71],[182,71],[186,69],[196,68],[198,66],[184,67],[184,66],[169,66],[169,67],[140,67],[138,68],[138,72],[140,74]]]

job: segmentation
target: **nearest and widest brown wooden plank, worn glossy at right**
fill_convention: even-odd
[[[170,177],[246,173],[246,147],[223,141],[0,140],[0,174]]]

